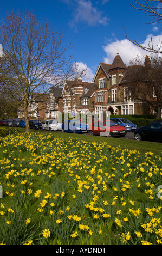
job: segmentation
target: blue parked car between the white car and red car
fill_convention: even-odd
[[[80,120],[66,120],[62,124],[62,132],[83,133],[88,131],[88,125]]]

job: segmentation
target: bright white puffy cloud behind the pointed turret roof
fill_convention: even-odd
[[[153,41],[154,48],[158,49],[158,45],[162,41],[162,35],[157,35],[157,36],[153,36],[151,34],[147,35],[146,40],[144,42],[141,42],[141,45],[148,47],[148,45],[151,44],[151,38]],[[119,51],[119,54],[125,64],[129,64],[129,61],[135,58],[138,54],[141,57],[144,55],[150,54],[149,52],[142,50],[138,46],[134,45],[128,39],[115,40],[115,41],[108,42],[106,46],[103,46],[103,50],[106,53],[104,62],[108,64],[112,64],[117,51]]]

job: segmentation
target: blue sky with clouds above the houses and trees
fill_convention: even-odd
[[[144,0],[140,0],[144,2]],[[162,38],[160,24],[146,24],[151,17],[135,10],[135,0],[5,0],[0,3],[1,19],[14,10],[33,10],[37,19],[49,20],[56,31],[64,32],[71,54],[80,69],[87,69],[84,81],[92,81],[100,62],[111,64],[117,51],[128,64],[141,51],[125,37],[148,46],[151,36],[157,46]],[[125,28],[125,31],[124,31]],[[3,42],[0,42],[3,45]]]

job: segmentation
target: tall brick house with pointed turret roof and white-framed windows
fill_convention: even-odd
[[[127,88],[122,78],[127,68],[122,61],[119,52],[112,64],[100,63],[95,73],[93,82],[94,109],[96,114],[109,111],[111,114],[143,114],[146,104],[134,101],[131,95],[126,96]]]

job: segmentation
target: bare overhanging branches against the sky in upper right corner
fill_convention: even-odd
[[[162,14],[160,11],[162,10],[162,0],[144,0],[144,3],[140,3],[139,1],[135,1],[138,7],[135,7],[131,4],[134,9],[144,11],[145,14],[151,16],[152,21],[149,23],[162,23]],[[126,33],[126,31],[125,31]],[[137,45],[142,50],[153,53],[162,53],[162,41],[159,39],[159,44],[157,46],[153,45],[152,37],[148,42],[148,47],[139,44],[139,42],[135,40],[131,40],[128,38],[126,33],[126,38],[133,42],[133,44]]]

